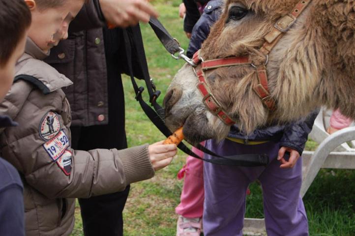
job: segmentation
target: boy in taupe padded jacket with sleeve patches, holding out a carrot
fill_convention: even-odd
[[[83,0],[25,0],[32,24],[25,55],[16,65],[10,92],[0,105],[21,128],[0,135],[4,158],[21,173],[25,185],[26,234],[69,235],[75,198],[123,190],[167,166],[175,145],[161,143],[117,149],[70,148],[70,107],[61,88],[71,81],[40,59],[67,37],[69,22]]]

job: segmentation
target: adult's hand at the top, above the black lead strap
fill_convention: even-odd
[[[158,13],[147,0],[99,0],[101,11],[110,25],[128,27],[149,22]]]

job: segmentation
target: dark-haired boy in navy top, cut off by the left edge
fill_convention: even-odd
[[[23,0],[0,0],[0,101],[11,88],[15,63],[25,50],[31,14]],[[0,129],[16,125],[0,116]],[[24,236],[23,185],[16,169],[0,158],[0,235]]]

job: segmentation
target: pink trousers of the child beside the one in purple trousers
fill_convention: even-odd
[[[202,142],[201,145],[205,145]],[[192,151],[203,157],[203,152],[197,148]],[[201,218],[204,211],[204,165],[203,161],[192,156],[186,159],[186,165],[179,174],[185,172],[180,204],[175,208],[178,215],[186,218]],[[182,174],[183,175],[183,174]]]

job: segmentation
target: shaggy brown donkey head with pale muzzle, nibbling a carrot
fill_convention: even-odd
[[[322,12],[316,14],[312,10],[317,1],[310,3],[292,27],[282,33],[267,58],[261,53],[265,36],[299,2],[227,0],[221,18],[202,46],[199,55],[205,61],[249,58],[250,63],[205,71],[211,93],[246,133],[269,123],[305,117],[321,103],[321,68],[325,67],[328,54],[320,24],[312,20],[313,16],[322,18],[317,18]],[[259,84],[255,66],[263,64],[266,64],[270,96],[276,101],[274,111],[270,111],[254,91]],[[183,125],[185,137],[193,143],[209,138],[223,139],[230,126],[209,112],[203,103],[197,89],[200,81],[195,72],[198,69],[199,66],[193,68],[185,64],[177,72],[164,99],[166,123],[171,130]]]

